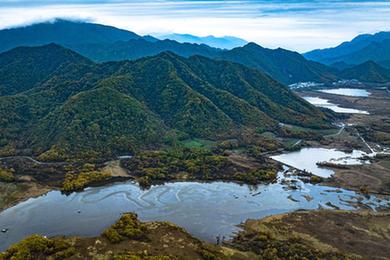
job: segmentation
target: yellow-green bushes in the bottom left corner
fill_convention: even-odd
[[[0,254],[0,259],[35,260],[39,257],[63,259],[74,255],[76,249],[71,241],[61,238],[50,239],[40,235],[32,235],[12,245]]]

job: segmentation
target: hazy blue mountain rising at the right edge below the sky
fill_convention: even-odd
[[[304,54],[305,58],[327,65],[344,68],[366,61],[375,61],[390,68],[390,32],[363,34],[350,42],[344,42],[337,47],[313,50]]]

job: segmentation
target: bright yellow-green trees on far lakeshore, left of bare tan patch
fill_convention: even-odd
[[[65,192],[82,190],[92,182],[107,180],[110,177],[111,175],[109,173],[100,171],[87,171],[79,174],[68,173],[62,184],[62,190]]]

